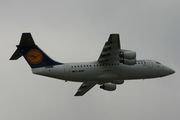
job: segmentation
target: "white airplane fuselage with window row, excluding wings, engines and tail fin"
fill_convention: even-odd
[[[168,69],[168,70],[167,70]],[[32,69],[34,74],[73,82],[107,83],[115,80],[147,79],[168,75],[170,68],[153,60],[138,60],[135,65],[119,62],[65,63]]]

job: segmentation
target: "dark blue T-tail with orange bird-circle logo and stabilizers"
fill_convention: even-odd
[[[31,68],[60,65],[62,63],[52,60],[34,42],[31,33],[23,33],[17,49],[10,60],[17,60],[21,56],[25,58]]]

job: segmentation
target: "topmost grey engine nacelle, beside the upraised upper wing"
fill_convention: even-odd
[[[131,50],[121,50],[119,57],[123,59],[132,60],[136,58],[136,52]]]

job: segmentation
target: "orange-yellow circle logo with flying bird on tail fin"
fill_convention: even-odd
[[[37,49],[31,49],[27,53],[27,60],[32,64],[38,64],[42,61],[42,59],[43,59],[43,55],[41,51]]]

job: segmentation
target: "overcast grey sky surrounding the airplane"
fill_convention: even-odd
[[[1,0],[1,120],[179,120],[179,0]],[[60,62],[97,60],[110,33],[137,59],[154,59],[176,73],[125,81],[114,92],[31,74],[26,61],[8,59],[22,32]]]

